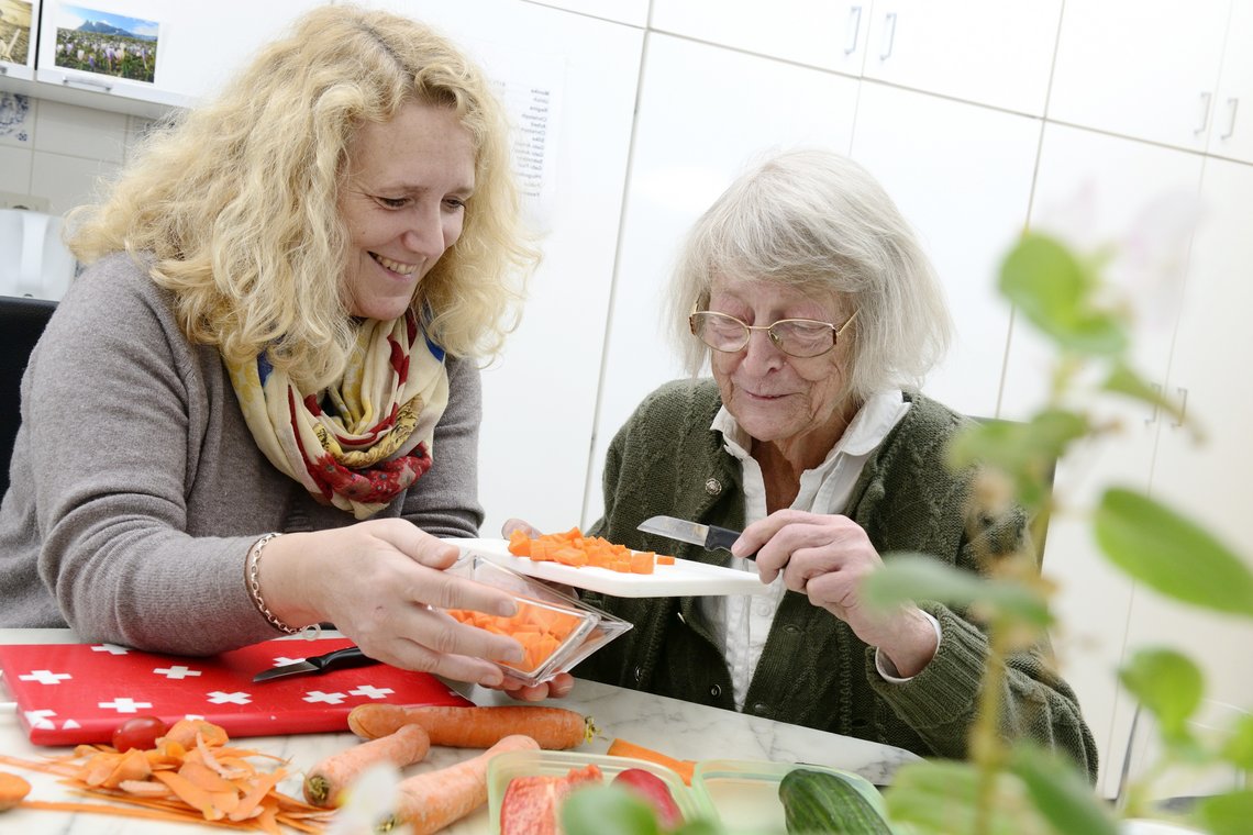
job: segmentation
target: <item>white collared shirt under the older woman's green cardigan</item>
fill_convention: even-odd
[[[792,508],[809,513],[843,511],[866,461],[908,411],[910,403],[900,389],[870,397],[853,416],[836,446],[827,453],[827,458],[801,474],[801,492],[792,502]],[[749,454],[752,438],[725,407],[714,416],[710,428],[722,432],[724,448],[741,463],[744,483],[744,523],[766,518],[766,479],[757,459]],[[752,561],[739,557],[732,557],[732,566],[742,571],[757,570]],[[739,710],[744,709],[748,685],[762,657],[774,613],[786,592],[781,575],[774,578],[764,595],[700,598],[705,617],[714,625],[715,633],[722,640],[727,666],[730,669],[736,707]],[[900,681],[892,675],[896,671],[890,665],[885,667],[883,661],[886,658],[881,658],[878,663],[880,675],[890,681]]]

